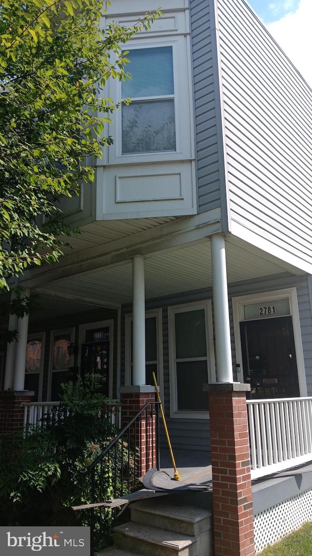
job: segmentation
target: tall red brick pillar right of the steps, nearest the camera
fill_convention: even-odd
[[[251,556],[254,549],[246,391],[249,384],[209,384],[214,556]]]

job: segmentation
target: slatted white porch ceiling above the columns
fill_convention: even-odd
[[[266,260],[241,246],[226,242],[228,282],[239,282],[285,272],[278,262]],[[153,253],[145,258],[146,299],[178,294],[212,286],[210,243]],[[36,291],[36,290],[35,290]],[[109,304],[132,301],[132,262],[103,267],[50,282],[47,295],[93,299]]]

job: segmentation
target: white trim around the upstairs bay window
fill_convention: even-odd
[[[109,135],[115,137],[114,147],[108,150],[108,163],[138,163],[158,162],[174,160],[190,160],[194,157],[194,133],[193,133],[193,105],[189,61],[189,38],[185,36],[172,36],[168,39],[160,37],[136,38],[135,41],[125,43],[124,50],[138,48],[157,48],[172,46],[173,54],[173,81],[174,81],[174,113],[175,113],[175,151],[157,151],[147,153],[133,153],[122,155],[122,110],[114,113],[113,123],[109,125]],[[130,69],[130,64],[127,68]],[[122,84],[119,80],[110,80],[110,97],[120,100]],[[160,97],[157,97],[160,98]],[[167,98],[167,97],[166,97]],[[148,100],[148,98],[147,98]],[[183,125],[182,125],[183,123]]]

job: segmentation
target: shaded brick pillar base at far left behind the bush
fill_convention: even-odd
[[[24,425],[24,408],[21,403],[30,402],[34,392],[30,390],[0,391],[0,437],[21,430]]]

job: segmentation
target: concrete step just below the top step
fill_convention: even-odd
[[[197,556],[195,537],[142,523],[129,522],[115,527],[114,544],[144,556]]]

